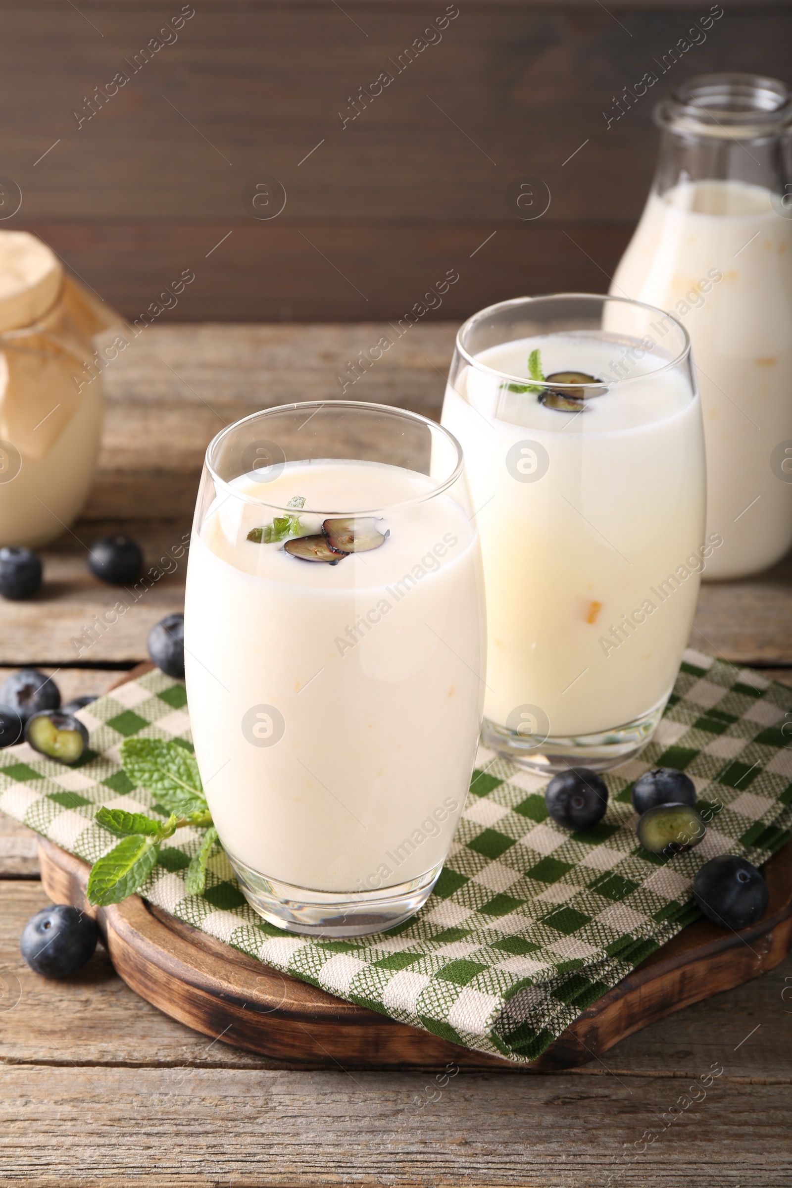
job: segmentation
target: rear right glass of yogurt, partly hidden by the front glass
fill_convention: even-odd
[[[686,330],[616,297],[492,305],[457,335],[442,422],[481,535],[486,746],[543,773],[625,763],[657,727],[722,543],[704,538]]]

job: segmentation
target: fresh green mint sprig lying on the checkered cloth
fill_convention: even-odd
[[[126,739],[121,744],[121,763],[138,788],[157,797],[158,807],[169,813],[158,820],[145,813],[123,809],[96,810],[96,823],[120,838],[118,846],[91,866],[88,876],[88,902],[106,908],[134,895],[157,865],[161,843],[185,826],[205,828],[201,847],[188,867],[186,890],[199,893],[207,883],[207,860],[217,842],[195,756],[178,742],[161,739]]]

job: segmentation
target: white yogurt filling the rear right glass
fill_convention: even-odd
[[[539,347],[545,374],[604,379],[619,373],[626,341],[556,334],[477,359],[525,377]],[[703,565],[703,447],[698,398],[677,371],[650,378],[652,366],[657,359],[639,361],[639,378],[578,415],[503,392],[471,367],[446,388],[442,423],[462,443],[480,508],[484,714],[500,726],[514,728],[509,715],[527,704],[553,737],[593,734],[671,691],[696,605],[692,569]],[[522,450],[528,481],[515,470]]]

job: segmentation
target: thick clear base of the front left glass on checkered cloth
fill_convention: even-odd
[[[310,891],[268,879],[236,858],[230,861],[254,911],[305,936],[368,936],[395,928],[423,908],[443,870],[441,862],[408,883],[379,891]]]

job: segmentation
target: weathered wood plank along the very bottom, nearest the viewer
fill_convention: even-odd
[[[568,1075],[460,1074],[438,1089],[425,1074],[404,1073],[7,1068],[0,1083],[4,1182],[792,1182],[792,1087],[747,1087],[721,1076],[673,1120],[669,1110],[680,1088]],[[665,1130],[664,1113],[671,1119]],[[644,1145],[650,1130],[654,1144]]]

